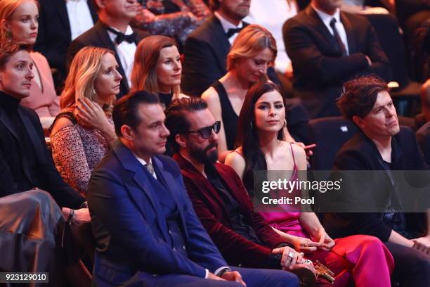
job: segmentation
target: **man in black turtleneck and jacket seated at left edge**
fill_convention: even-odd
[[[51,279],[63,257],[70,283],[89,286],[90,275],[69,244],[69,224],[61,224],[58,208],[67,207],[70,223],[88,221],[85,199],[58,174],[37,114],[20,105],[30,96],[34,78],[30,51],[24,42],[0,46],[0,269],[51,272]],[[58,224],[65,230],[57,229]]]

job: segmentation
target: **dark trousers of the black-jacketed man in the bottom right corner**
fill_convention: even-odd
[[[400,286],[430,286],[430,256],[414,248],[384,243],[394,258],[393,280]]]

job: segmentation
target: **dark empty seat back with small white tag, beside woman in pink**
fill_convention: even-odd
[[[337,152],[356,132],[356,125],[344,117],[309,121],[311,143],[317,145],[311,158],[311,170],[332,170]]]

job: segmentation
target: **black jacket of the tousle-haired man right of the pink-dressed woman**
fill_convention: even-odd
[[[429,170],[415,134],[409,127],[400,127],[400,132],[391,140],[391,148],[391,170]],[[375,144],[363,132],[358,132],[337,154],[334,170],[386,170],[386,168]],[[388,180],[388,178],[379,177],[371,182],[363,182],[363,189],[380,192],[381,189],[386,189],[386,186],[391,186],[387,183]],[[408,230],[422,229],[422,214],[406,215]],[[324,225],[327,233],[334,238],[367,234],[376,236],[384,242],[388,241],[391,234],[391,228],[382,221],[379,213],[374,212],[327,213],[324,217]]]

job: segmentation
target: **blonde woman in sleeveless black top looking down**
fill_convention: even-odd
[[[212,115],[221,122],[218,145],[221,162],[235,148],[237,119],[249,86],[266,81],[268,67],[273,65],[277,51],[271,32],[260,25],[248,25],[228,52],[227,74],[202,94]],[[286,140],[294,141],[287,129]]]

